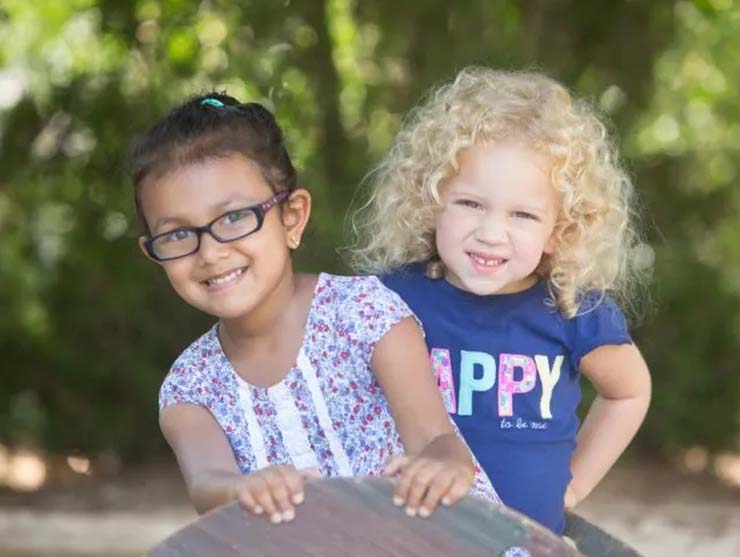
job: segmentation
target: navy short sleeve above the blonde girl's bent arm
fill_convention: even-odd
[[[588,298],[571,319],[571,358],[574,369],[581,358],[600,346],[632,344],[627,320],[609,296]]]

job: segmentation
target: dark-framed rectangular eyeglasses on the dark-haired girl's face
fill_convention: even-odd
[[[157,234],[144,242],[147,253],[157,261],[170,261],[194,254],[200,249],[200,238],[208,232],[221,243],[233,242],[254,234],[265,221],[265,215],[289,195],[281,191],[264,203],[229,211],[204,226],[178,228]]]

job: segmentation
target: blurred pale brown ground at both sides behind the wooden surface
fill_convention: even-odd
[[[614,469],[577,511],[645,557],[740,556],[740,488],[641,461]],[[170,461],[106,477],[0,490],[0,557],[132,557],[195,518]]]

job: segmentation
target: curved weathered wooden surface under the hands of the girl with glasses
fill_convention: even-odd
[[[232,503],[176,532],[149,557],[574,557],[550,531],[502,507],[466,497],[430,518],[392,504],[384,479],[306,485],[293,522],[272,525]]]

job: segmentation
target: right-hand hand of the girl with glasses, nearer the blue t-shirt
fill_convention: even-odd
[[[451,459],[397,456],[388,461],[385,476],[398,475],[393,503],[406,506],[406,514],[426,518],[441,502],[449,506],[473,485],[468,467]]]

